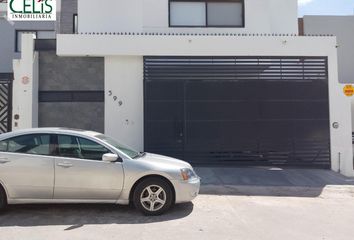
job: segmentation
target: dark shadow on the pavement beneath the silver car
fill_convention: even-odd
[[[188,216],[193,203],[177,204],[161,216],[144,216],[129,206],[111,204],[9,205],[0,213],[0,228],[7,226],[68,225],[66,231],[89,224],[144,224]],[[1,239],[1,237],[0,237]]]

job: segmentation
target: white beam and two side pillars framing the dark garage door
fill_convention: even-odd
[[[354,176],[351,103],[338,82],[336,45],[335,37],[57,36],[58,55],[105,56],[106,133],[140,151],[144,134],[142,56],[327,56],[331,165],[334,171]],[[108,98],[112,89],[123,103],[120,108]],[[338,129],[332,127],[334,122],[339,123]]]

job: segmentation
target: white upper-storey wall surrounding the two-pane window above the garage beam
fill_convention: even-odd
[[[245,0],[244,28],[169,28],[168,7],[168,0],[79,0],[79,32],[298,33],[297,0]]]

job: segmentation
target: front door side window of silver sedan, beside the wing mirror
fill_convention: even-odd
[[[107,148],[94,141],[75,136],[59,135],[58,144],[61,157],[102,160],[103,154],[110,153]]]

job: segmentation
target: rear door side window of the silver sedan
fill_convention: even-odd
[[[31,134],[7,139],[1,144],[7,152],[50,155],[50,135]]]

